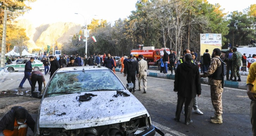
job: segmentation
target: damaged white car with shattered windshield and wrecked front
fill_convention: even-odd
[[[156,133],[150,115],[106,67],[57,70],[41,98],[35,135],[133,136]],[[36,94],[36,95],[35,95]]]

